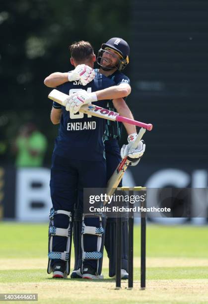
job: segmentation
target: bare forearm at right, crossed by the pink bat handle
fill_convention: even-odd
[[[121,116],[134,119],[134,116],[130,108],[128,107],[126,101],[123,98],[114,99],[113,105]],[[127,130],[128,135],[137,133],[136,126],[127,123],[123,123],[123,124],[125,126],[125,129]]]

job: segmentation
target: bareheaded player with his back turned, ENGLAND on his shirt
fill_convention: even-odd
[[[91,45],[81,42],[78,50],[77,52],[77,44],[71,45],[70,53],[74,65],[84,63],[93,66],[95,56]],[[91,93],[114,84],[113,80],[96,72],[94,79],[85,89]],[[80,91],[82,87],[78,81],[73,81],[64,83],[57,89],[69,95]],[[98,102],[98,106],[106,105],[105,100]],[[65,277],[69,275],[74,205],[78,200],[80,209],[83,210],[83,188],[106,186],[106,162],[102,140],[105,121],[83,113],[73,114],[56,102],[53,104],[51,119],[54,123],[60,121],[60,128],[51,167],[53,208],[50,213],[48,273],[53,272],[53,277]],[[83,219],[81,269],[85,278],[100,278],[104,226],[101,215]],[[93,227],[94,233],[91,231]]]

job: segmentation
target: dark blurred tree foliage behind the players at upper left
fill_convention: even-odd
[[[97,53],[102,42],[122,36],[129,40],[130,1],[9,0],[0,7],[1,111],[9,138],[33,120],[48,136],[51,147],[57,127],[49,119],[51,102],[44,78],[65,72],[68,46],[88,40]],[[49,161],[46,161],[50,163]]]

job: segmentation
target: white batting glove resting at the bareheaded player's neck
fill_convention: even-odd
[[[68,73],[69,81],[80,80],[82,85],[86,85],[92,81],[94,77],[94,70],[86,65],[78,65],[73,71]]]

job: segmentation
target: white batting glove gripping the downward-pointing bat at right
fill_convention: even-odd
[[[146,145],[144,144],[144,141],[140,141],[138,147],[133,148],[132,145],[135,142],[136,138],[137,138],[136,133],[129,135],[128,136],[129,144],[123,145],[123,147],[121,148],[121,157],[125,158],[128,156],[129,158],[131,158],[132,165],[136,165],[139,162],[140,157],[143,155],[143,153],[145,151],[145,147],[146,147]]]

